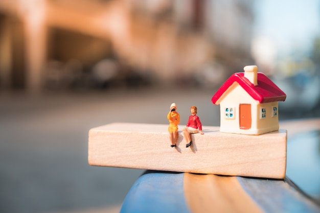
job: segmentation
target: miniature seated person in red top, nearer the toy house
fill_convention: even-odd
[[[191,115],[189,116],[189,120],[187,123],[187,126],[184,128],[184,135],[186,138],[186,148],[190,147],[192,144],[191,141],[191,133],[198,133],[204,134],[202,132],[202,124],[200,122],[199,117],[196,115],[197,114],[197,107],[192,106],[190,108]]]

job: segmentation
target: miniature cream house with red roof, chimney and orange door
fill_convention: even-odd
[[[259,135],[279,130],[278,102],[286,94],[257,66],[228,78],[212,97],[220,104],[220,131]]]

